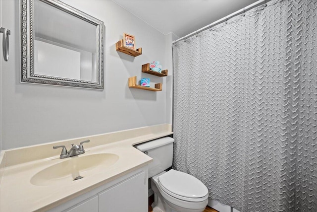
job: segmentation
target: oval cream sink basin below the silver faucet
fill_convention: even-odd
[[[119,156],[110,153],[90,154],[60,159],[60,163],[39,171],[31,178],[36,186],[54,186],[61,183],[70,183],[80,177],[89,177],[90,174],[101,173],[116,163]],[[80,179],[79,179],[80,180]]]

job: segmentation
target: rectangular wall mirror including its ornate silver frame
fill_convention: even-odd
[[[104,22],[59,0],[21,0],[21,82],[104,89]]]

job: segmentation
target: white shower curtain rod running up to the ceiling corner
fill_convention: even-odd
[[[193,35],[195,35],[195,34],[198,34],[198,33],[202,32],[202,31],[204,31],[204,30],[206,30],[206,29],[208,29],[208,28],[211,28],[211,27],[215,26],[215,25],[217,25],[217,24],[219,24],[219,23],[225,22],[225,21],[227,21],[228,19],[230,19],[230,18],[232,18],[232,17],[234,17],[234,16],[236,16],[236,15],[243,14],[243,13],[245,13],[246,11],[248,11],[248,10],[254,8],[254,7],[260,6],[260,5],[262,5],[262,4],[266,4],[268,1],[270,1],[270,0],[258,0],[258,1],[254,2],[254,3],[250,4],[250,5],[248,5],[248,6],[246,6],[246,7],[243,7],[242,9],[239,9],[239,10],[236,11],[236,12],[231,13],[230,15],[227,15],[227,16],[225,16],[225,17],[223,17],[223,18],[221,18],[221,19],[219,19],[219,20],[217,20],[217,21],[212,22],[211,24],[209,24],[209,25],[207,25],[207,26],[204,26],[203,28],[200,28],[199,30],[196,30],[195,32],[192,32],[192,33],[190,33],[190,34],[188,34],[188,35],[185,35],[185,36],[182,37],[182,38],[179,38],[179,39],[176,40],[176,41],[173,41],[172,44],[176,44],[176,42],[178,42],[178,41],[181,41],[181,40],[184,40],[184,39],[186,39],[186,38],[189,38],[189,37],[191,37],[191,36],[193,36]]]

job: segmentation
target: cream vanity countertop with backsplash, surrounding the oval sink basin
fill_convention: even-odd
[[[152,158],[137,150],[132,145],[173,134],[169,129],[170,127],[168,125],[159,125],[76,140],[36,145],[33,146],[34,149],[47,149],[49,155],[52,154],[52,152],[54,155],[43,158],[43,154],[41,154],[43,151],[41,151],[38,158],[32,155],[31,160],[27,158],[27,155],[23,155],[23,148],[4,151],[5,167],[1,169],[0,211],[48,211],[120,176],[145,166],[152,161]],[[142,134],[142,132],[145,134]],[[132,134],[134,134],[133,138],[131,138]],[[116,141],[127,136],[129,137],[128,139]],[[70,158],[60,159],[59,154],[61,148],[53,149],[53,145],[66,145],[67,149],[69,149],[70,143],[74,142],[75,144],[79,144],[77,141],[84,141],[84,139],[90,139],[90,143],[84,143],[86,152],[75,157],[111,153],[118,155],[118,160],[113,165],[106,167],[105,170],[90,170],[87,176],[78,181],[65,181],[58,184],[58,186],[56,186],[56,184],[37,186],[31,183],[31,178],[39,171],[62,161],[70,160]],[[104,142],[106,144],[101,144],[103,139],[105,139]],[[24,152],[28,153],[31,150],[32,146],[24,149]],[[16,159],[17,157],[19,159]],[[13,162],[10,161],[11,158],[15,158]],[[4,162],[2,159],[1,164]]]

